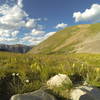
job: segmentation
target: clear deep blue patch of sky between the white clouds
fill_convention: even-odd
[[[47,30],[58,23],[67,23],[68,25],[75,25],[73,13],[77,11],[84,12],[85,9],[90,8],[92,4],[100,4],[99,0],[24,0],[24,9],[32,18],[47,18]],[[86,23],[86,22],[83,22]]]

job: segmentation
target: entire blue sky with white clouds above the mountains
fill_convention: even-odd
[[[0,43],[36,45],[56,31],[100,22],[100,0],[0,0]]]

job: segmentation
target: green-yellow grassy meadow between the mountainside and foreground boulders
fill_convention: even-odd
[[[0,52],[0,98],[8,100],[13,94],[37,90],[59,73],[68,75],[73,86],[86,81],[100,87],[100,54],[29,55]]]

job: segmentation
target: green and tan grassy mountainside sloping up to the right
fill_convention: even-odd
[[[100,53],[100,23],[67,27],[56,32],[29,53]]]

